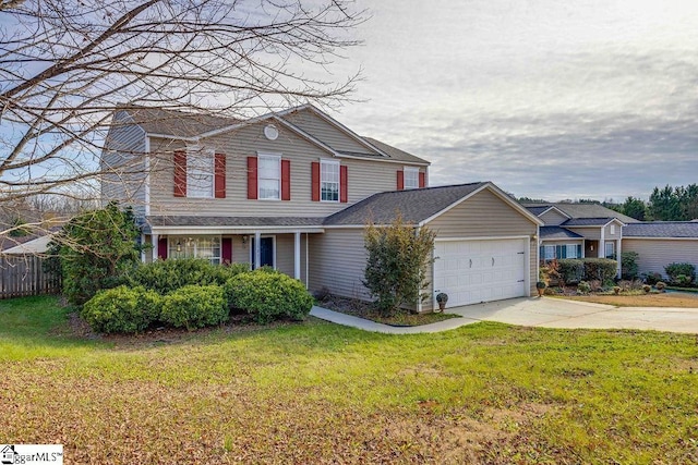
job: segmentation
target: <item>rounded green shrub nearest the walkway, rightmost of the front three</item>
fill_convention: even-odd
[[[263,325],[284,317],[302,320],[313,307],[313,297],[300,281],[274,270],[240,273],[228,280],[225,293],[232,307]]]

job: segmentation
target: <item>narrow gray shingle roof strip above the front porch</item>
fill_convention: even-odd
[[[324,217],[147,217],[151,227],[321,227]]]

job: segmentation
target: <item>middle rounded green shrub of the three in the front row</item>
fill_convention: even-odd
[[[228,320],[219,285],[185,285],[163,297],[160,319],[174,328],[203,328]]]

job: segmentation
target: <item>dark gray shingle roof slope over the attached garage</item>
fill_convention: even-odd
[[[411,191],[392,191],[374,194],[325,220],[325,225],[388,224],[397,212],[406,222],[417,224],[442,211],[488,183],[425,187]]]

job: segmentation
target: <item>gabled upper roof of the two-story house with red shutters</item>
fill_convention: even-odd
[[[381,161],[394,161],[394,162],[406,162],[406,163],[414,163],[414,164],[431,164],[429,161],[416,157],[411,154],[408,154],[404,150],[395,148],[388,144],[382,143],[374,138],[362,137],[357,135],[353,131],[349,130],[341,123],[337,122],[329,115],[325,114],[321,110],[316,109],[312,105],[303,105],[294,108],[290,108],[280,112],[270,112],[267,114],[263,114],[261,117],[251,118],[248,120],[238,120],[234,118],[220,117],[215,114],[206,114],[206,113],[194,113],[188,111],[180,110],[169,110],[154,107],[140,107],[140,106],[130,106],[120,108],[120,110],[125,111],[133,121],[139,124],[146,134],[148,135],[157,135],[164,137],[173,137],[173,138],[184,138],[184,139],[196,139],[200,137],[209,137],[213,135],[217,135],[227,131],[232,131],[238,127],[242,127],[249,124],[255,124],[266,120],[276,121],[291,131],[296,132],[301,137],[305,137],[311,139],[313,143],[320,143],[324,148],[328,149],[333,154],[341,157],[359,157],[359,158],[369,158],[373,160]],[[362,152],[349,152],[336,150],[330,145],[320,142],[313,134],[309,133],[306,130],[298,127],[291,121],[286,120],[284,117],[287,114],[291,114],[298,111],[311,111],[317,117],[322,118],[325,121],[328,121],[333,124],[333,126],[337,127],[338,131],[344,132],[352,139],[361,143],[365,147],[369,147],[375,150],[376,154],[362,154]]]

